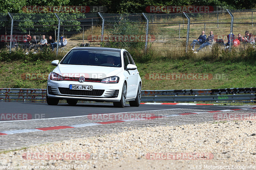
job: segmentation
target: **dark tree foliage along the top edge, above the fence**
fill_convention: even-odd
[[[4,0],[0,1],[0,13],[22,13],[22,7],[29,5],[64,6],[64,5],[89,5],[105,6],[107,13],[141,13],[146,12],[147,6],[165,5],[212,5],[228,9],[253,9],[256,8],[255,0]]]

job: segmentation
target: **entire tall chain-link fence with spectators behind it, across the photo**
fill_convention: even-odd
[[[253,46],[256,10],[167,14],[0,13],[0,23],[0,47],[8,50],[21,48],[24,52],[40,52],[48,47],[58,53],[75,46],[101,46],[146,49],[156,55],[172,56],[184,55],[191,50],[208,53],[217,45],[226,50],[244,50]],[[249,33],[245,34],[245,31]],[[205,40],[211,32],[214,39]],[[36,45],[33,44],[34,35]],[[44,38],[48,41],[47,46],[38,44]]]

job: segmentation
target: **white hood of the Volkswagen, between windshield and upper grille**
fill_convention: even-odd
[[[121,67],[59,64],[52,72],[63,77],[106,78],[115,76],[121,71]]]

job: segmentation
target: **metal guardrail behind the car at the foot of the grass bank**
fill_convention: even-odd
[[[144,90],[144,102],[251,101],[256,102],[256,87],[203,90]],[[46,102],[46,89],[0,89],[0,101]]]

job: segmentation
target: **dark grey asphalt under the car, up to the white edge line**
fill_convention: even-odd
[[[140,107],[130,107],[126,103],[124,108],[113,107],[113,104],[105,103],[78,103],[76,106],[69,106],[68,104],[58,104],[57,106],[50,106],[46,103],[16,103],[16,102],[0,102],[0,114],[31,114],[32,119],[36,119],[38,114],[40,118],[56,118],[56,117],[69,117],[69,116],[82,116],[88,114],[108,114],[120,112],[141,112],[151,110],[164,110],[164,109],[180,109],[180,108],[197,108],[204,111],[222,109],[223,106],[196,106],[196,105],[140,105]],[[232,107],[233,108],[233,107]],[[35,114],[36,117],[35,117]],[[42,115],[41,115],[42,114]],[[15,121],[15,118],[12,120]],[[6,120],[0,120],[6,121]]]

